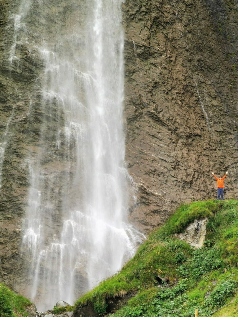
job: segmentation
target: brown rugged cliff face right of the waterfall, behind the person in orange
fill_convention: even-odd
[[[144,231],[181,202],[237,187],[237,1],[126,1],[129,173]]]

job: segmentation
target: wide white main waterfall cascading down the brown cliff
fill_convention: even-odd
[[[72,304],[119,270],[143,238],[127,223],[121,2],[22,0],[14,19],[10,62],[18,61],[24,33],[44,65],[28,113],[30,122],[40,113],[40,132],[27,159],[22,246],[30,272],[26,295],[41,310],[61,299]],[[42,28],[31,40],[27,16],[34,6]],[[52,26],[49,7],[61,29]]]

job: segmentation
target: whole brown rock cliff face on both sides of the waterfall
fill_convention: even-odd
[[[74,10],[79,18],[80,6],[60,1],[53,10],[52,3],[48,3],[44,20],[55,23],[54,29],[72,28],[67,12]],[[215,197],[212,170],[217,174],[229,171],[225,197],[236,196],[238,4],[126,0],[122,8],[126,159],[138,188],[138,204],[130,217],[140,230],[148,232],[181,202]],[[26,45],[25,35],[22,41],[17,38],[14,48],[21,58],[10,65],[16,35],[12,14],[18,10],[15,1],[0,0],[0,279],[11,287],[16,276],[18,285],[24,279],[19,274],[24,260],[19,249],[30,185],[27,159],[30,152],[43,148],[38,145],[37,150],[36,145],[47,116],[40,107],[40,91],[34,90],[43,61],[34,46]],[[30,12],[27,21],[32,43],[41,27],[38,16],[42,12],[38,10],[40,6]],[[64,20],[57,18],[59,12],[65,12]],[[54,41],[52,30],[47,32]],[[62,115],[56,115],[62,122]],[[53,120],[45,126],[44,133],[49,133],[46,146],[50,146],[55,125]],[[49,175],[58,171],[56,181],[63,183],[60,158],[61,153],[52,152],[44,164]],[[46,184],[51,185],[54,183]],[[58,193],[53,187],[51,193],[56,201]]]

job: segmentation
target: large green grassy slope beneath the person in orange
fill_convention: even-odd
[[[203,248],[194,250],[173,238],[203,217],[208,217]],[[91,301],[96,311],[105,314],[107,298],[135,293],[111,317],[189,317],[194,316],[195,308],[199,316],[206,316],[238,296],[237,264],[238,201],[194,202],[182,205],[162,228],[151,233],[118,274],[102,281],[76,304]],[[158,277],[168,285],[158,285]],[[237,305],[238,300],[214,316],[238,317]]]

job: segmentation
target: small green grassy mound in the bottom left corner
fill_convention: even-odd
[[[0,284],[0,317],[27,316],[25,309],[29,305],[31,302],[27,298]]]

